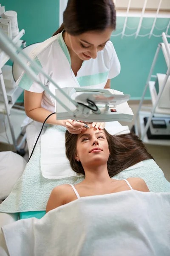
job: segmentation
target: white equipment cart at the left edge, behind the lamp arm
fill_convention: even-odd
[[[24,34],[25,30],[22,29],[19,34],[12,40],[14,44],[17,45],[17,47],[21,47],[23,42],[25,43],[25,41],[21,40]],[[3,97],[3,101],[0,101],[0,114],[6,115],[8,119],[8,127],[6,127],[6,131],[0,133],[0,142],[7,143],[8,141],[8,144],[14,145],[14,150],[17,151],[18,154],[24,155],[25,151],[21,149],[21,146],[26,140],[26,133],[23,134],[21,124],[26,118],[26,113],[22,110],[24,109],[24,107],[15,105],[15,102],[10,102],[8,100],[2,73],[2,67],[9,59],[10,57],[6,55],[5,52],[0,52],[0,90]],[[18,96],[20,96],[22,92],[23,89],[21,89],[20,87],[16,87],[16,93],[18,94]],[[13,106],[17,107],[17,109],[12,108]],[[21,142],[17,144],[17,139],[21,134],[23,135],[23,138]]]

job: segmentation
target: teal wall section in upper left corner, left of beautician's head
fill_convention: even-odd
[[[17,12],[18,27],[25,29],[27,45],[51,37],[59,27],[59,0],[1,0],[5,10]]]

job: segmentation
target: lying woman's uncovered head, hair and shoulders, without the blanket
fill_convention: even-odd
[[[86,123],[87,124],[87,123]],[[83,128],[80,134],[66,131],[65,148],[71,168],[85,175],[73,185],[57,186],[51,192],[46,212],[80,197],[105,195],[126,190],[149,192],[141,178],[115,180],[111,177],[140,161],[153,158],[136,135],[112,136],[105,129]]]

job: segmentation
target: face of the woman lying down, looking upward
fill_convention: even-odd
[[[82,133],[78,135],[75,158],[82,166],[105,164],[110,154],[105,132],[89,126],[89,130],[83,128]]]

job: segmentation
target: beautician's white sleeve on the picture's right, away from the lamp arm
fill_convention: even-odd
[[[112,44],[112,57],[110,60],[110,70],[109,70],[108,79],[112,79],[113,77],[118,76],[119,73],[120,73],[120,62]]]

